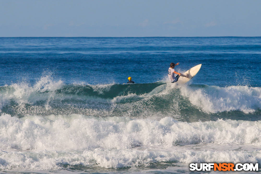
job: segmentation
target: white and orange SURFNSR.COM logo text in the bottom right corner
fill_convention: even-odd
[[[189,170],[194,171],[258,171],[258,163],[191,163]]]

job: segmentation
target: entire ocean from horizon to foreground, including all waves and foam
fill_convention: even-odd
[[[0,172],[261,165],[260,60],[261,37],[0,38]]]

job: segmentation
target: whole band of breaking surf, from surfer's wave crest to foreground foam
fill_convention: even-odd
[[[260,112],[260,91],[169,82],[66,85],[48,76],[33,86],[3,86],[1,169],[122,168],[169,161],[257,163],[261,122],[248,115]],[[234,112],[239,111],[247,118],[215,115],[230,113],[235,119]],[[195,113],[205,115],[204,120]]]

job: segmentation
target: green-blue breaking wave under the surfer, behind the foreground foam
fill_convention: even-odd
[[[193,122],[259,120],[261,88],[176,85],[165,82],[107,85],[11,85],[0,87],[1,113],[84,114],[94,117],[173,117]]]

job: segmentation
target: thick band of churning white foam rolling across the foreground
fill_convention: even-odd
[[[126,167],[151,162],[253,162],[261,159],[261,121],[186,123],[165,117],[0,116],[0,169],[66,165]],[[179,144],[183,146],[179,146]]]

